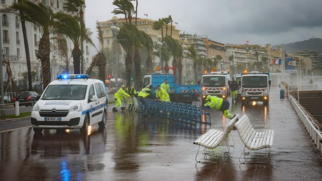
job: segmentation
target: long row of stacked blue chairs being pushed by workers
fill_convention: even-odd
[[[152,115],[169,118],[195,126],[199,125],[200,128],[202,124],[211,126],[210,110],[207,108],[202,109],[191,104],[154,101],[150,99],[145,99],[145,101]],[[124,100],[124,103],[125,106],[123,107],[130,111],[136,111],[142,114],[146,113],[146,108],[144,108],[137,98],[127,98]]]

